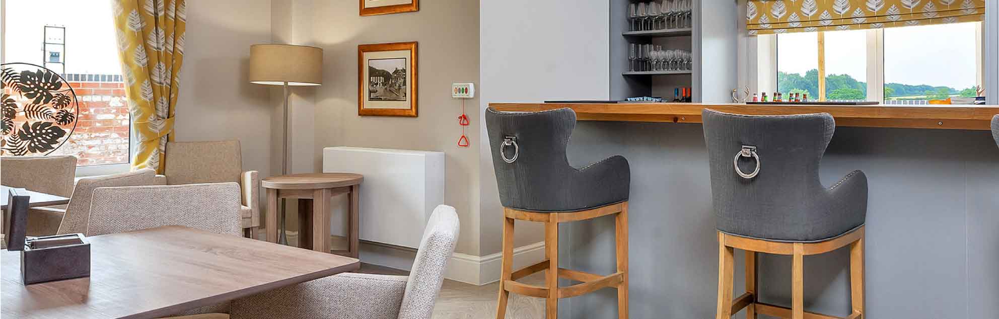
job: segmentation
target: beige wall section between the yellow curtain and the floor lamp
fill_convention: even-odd
[[[188,1],[187,17],[176,140],[239,140],[243,169],[271,175],[274,107],[246,80],[250,45],[271,39],[271,1]]]

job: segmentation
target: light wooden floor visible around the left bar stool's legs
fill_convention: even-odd
[[[373,264],[361,264],[363,273],[406,275],[409,271],[393,269]],[[517,280],[526,284],[543,285],[544,273],[538,272]],[[496,318],[497,296],[500,283],[476,286],[454,280],[444,280],[441,296],[434,307],[434,319],[481,319]],[[544,299],[509,295],[506,309],[509,319],[544,318]]]

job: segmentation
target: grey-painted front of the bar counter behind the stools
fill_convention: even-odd
[[[631,164],[632,318],[711,318],[717,243],[700,125],[580,122],[569,161]],[[825,184],[852,169],[870,182],[867,313],[871,318],[994,318],[999,313],[999,148],[989,133],[839,128]],[[562,226],[563,267],[611,273],[613,220]],[[736,287],[742,287],[736,252]],[[805,307],[849,313],[845,249],[805,257]],[[790,258],[760,258],[761,299],[790,304]],[[736,288],[735,295],[742,289]],[[611,318],[612,289],[561,303],[569,318]],[[743,311],[744,312],[744,311]],[[743,317],[742,312],[738,317]]]

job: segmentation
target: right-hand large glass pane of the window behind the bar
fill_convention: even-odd
[[[884,29],[885,103],[977,96],[976,24]]]

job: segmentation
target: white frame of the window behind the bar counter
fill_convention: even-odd
[[[992,0],[993,2],[999,2],[999,0]],[[990,3],[991,4],[991,3]],[[989,8],[994,7],[990,6]],[[988,11],[988,10],[987,10]],[[978,85],[986,88],[986,92],[996,92],[997,94],[989,95],[986,93],[986,98],[988,99],[986,103],[988,104],[999,104],[999,89],[997,84],[999,84],[999,75],[990,74],[987,70],[987,66],[996,65],[999,61],[999,56],[997,56],[994,43],[990,43],[988,36],[991,33],[995,33],[994,28],[988,28],[991,24],[995,24],[992,20],[995,20],[995,11],[991,15],[987,14],[986,21],[978,22],[976,25],[976,48],[979,59],[976,63],[978,67],[976,68]],[[999,21],[997,21],[999,22]],[[824,32],[819,32],[824,33]],[[866,30],[867,35],[867,78],[864,79],[867,83],[867,101],[880,103],[882,106],[893,106],[884,104],[884,29],[869,29]],[[766,34],[752,36],[755,38],[755,45],[752,41],[746,42],[746,53],[749,57],[756,56],[756,68],[746,68],[749,72],[748,78],[755,79],[756,91],[753,92],[773,92],[777,90],[777,35],[776,34]],[[751,38],[752,38],[751,37]],[[818,41],[822,41],[821,36],[817,37]],[[816,43],[816,45],[819,45]],[[821,48],[820,48],[821,50]],[[825,69],[824,61],[821,58],[822,54],[819,55],[818,68],[819,73],[823,74],[822,71]],[[747,59],[748,61],[753,61],[753,59]],[[756,74],[752,74],[755,72]],[[999,72],[997,72],[999,73]],[[859,80],[859,79],[858,79]],[[822,81],[820,81],[822,82]],[[750,86],[751,87],[751,86]],[[752,90],[750,88],[750,90]],[[819,95],[821,101],[825,100],[825,97]]]

